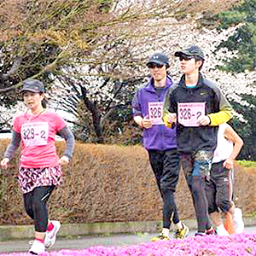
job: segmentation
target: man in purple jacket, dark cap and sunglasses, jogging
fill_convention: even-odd
[[[163,206],[163,229],[152,241],[168,240],[170,227],[176,226],[175,238],[188,236],[189,228],[183,224],[177,214],[174,192],[179,174],[179,154],[177,154],[176,128],[168,128],[163,122],[163,106],[166,93],[172,86],[167,75],[168,57],[163,53],[152,55],[147,63],[151,78],[148,84],[137,90],[132,101],[133,117],[143,129],[143,146],[148,156]]]

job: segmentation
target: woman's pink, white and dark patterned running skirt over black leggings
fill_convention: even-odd
[[[31,192],[37,187],[60,185],[62,182],[61,166],[43,168],[20,167],[18,183],[23,194]]]

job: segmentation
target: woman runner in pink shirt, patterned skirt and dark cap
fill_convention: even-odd
[[[23,193],[26,213],[34,220],[35,239],[29,252],[44,253],[52,247],[59,221],[48,219],[46,203],[55,186],[61,183],[61,166],[69,163],[73,154],[74,137],[65,121],[45,106],[44,84],[36,79],[24,81],[21,89],[27,107],[14,119],[12,141],[4,154],[1,166],[7,169],[9,160],[21,142],[18,183]],[[55,135],[66,141],[59,159],[55,150]]]

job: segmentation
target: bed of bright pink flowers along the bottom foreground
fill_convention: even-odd
[[[30,253],[0,253],[28,256]],[[83,250],[49,251],[42,256],[255,256],[256,234],[190,236],[183,240],[148,242],[130,247],[90,247]]]

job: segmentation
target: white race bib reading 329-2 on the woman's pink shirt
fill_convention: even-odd
[[[26,146],[46,145],[48,134],[47,122],[27,123],[21,126],[21,138]]]

